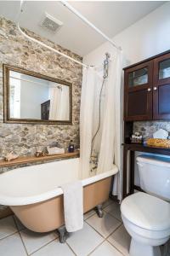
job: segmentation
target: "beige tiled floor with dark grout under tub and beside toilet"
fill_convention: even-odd
[[[104,204],[104,217],[94,210],[84,215],[84,227],[71,233],[65,244],[56,231],[37,234],[26,230],[15,217],[0,220],[1,256],[127,256],[130,237],[124,229],[120,207],[114,201]]]

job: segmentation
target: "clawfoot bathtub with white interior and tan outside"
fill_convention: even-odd
[[[110,172],[82,180],[84,212],[106,201],[111,188]],[[9,206],[29,230],[48,232],[65,224],[60,185],[79,177],[79,159],[59,160],[14,169],[0,175],[0,204]]]

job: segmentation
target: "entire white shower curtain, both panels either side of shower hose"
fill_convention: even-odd
[[[82,102],[81,102],[81,165],[82,177],[90,174],[90,154],[94,126],[93,116],[99,108],[94,108],[95,86],[101,87],[99,75],[91,69],[83,73]],[[103,118],[100,127],[99,162],[97,172],[111,170],[113,163],[119,168],[119,173],[114,178],[113,195],[122,199],[122,166],[121,166],[121,77],[122,77],[122,52],[117,50],[109,65],[109,76],[105,80],[105,100],[102,104]],[[96,84],[97,83],[97,84]]]

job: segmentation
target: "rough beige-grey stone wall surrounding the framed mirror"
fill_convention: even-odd
[[[82,58],[68,49],[63,49],[45,38],[28,32],[31,37],[59,49],[67,55],[82,61]],[[3,63],[42,73],[72,83],[72,125],[27,125],[3,123]],[[15,154],[34,154],[37,146],[45,147],[58,142],[67,147],[72,139],[79,147],[79,113],[82,84],[82,67],[73,61],[54,54],[24,38],[15,24],[0,17],[0,157],[14,151]]]

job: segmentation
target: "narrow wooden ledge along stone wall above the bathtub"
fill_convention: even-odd
[[[15,160],[10,160],[10,161],[0,160],[0,167],[16,166],[16,165],[34,163],[39,161],[45,161],[45,160],[68,159],[68,158],[74,158],[74,157],[79,157],[79,151],[76,151],[74,153],[51,154],[51,155],[45,155],[45,156],[39,156],[39,157],[20,156]]]

